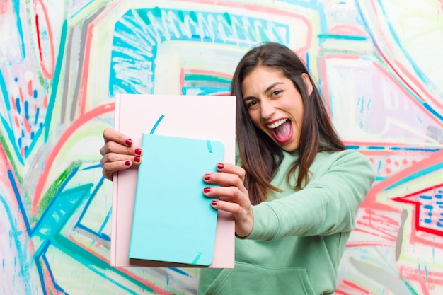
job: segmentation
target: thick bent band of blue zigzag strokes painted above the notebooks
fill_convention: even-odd
[[[109,93],[153,93],[156,50],[162,42],[210,42],[249,48],[270,40],[288,45],[289,26],[229,13],[166,11],[158,7],[128,10],[115,23]]]

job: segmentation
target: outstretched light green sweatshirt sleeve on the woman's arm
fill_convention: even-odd
[[[304,189],[253,206],[253,230],[246,238],[270,241],[352,231],[374,176],[363,154],[350,150],[331,154],[321,160]]]

